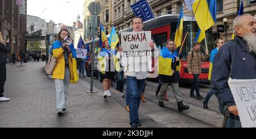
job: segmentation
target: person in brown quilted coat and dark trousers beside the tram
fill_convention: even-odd
[[[200,43],[193,43],[193,49],[188,53],[188,73],[192,74],[194,79],[192,83],[192,88],[190,91],[190,97],[196,98],[198,100],[204,99],[199,92],[199,74],[201,74],[201,65],[203,62],[203,53],[200,51]],[[196,90],[196,96],[194,91]]]

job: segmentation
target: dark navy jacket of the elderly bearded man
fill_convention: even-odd
[[[229,41],[218,50],[213,62],[210,85],[212,90],[216,91],[221,112],[223,112],[224,106],[236,105],[228,85],[235,42],[237,42],[237,45],[234,54],[232,78],[256,79],[256,60],[247,52],[246,41],[242,37],[236,36],[234,40]]]

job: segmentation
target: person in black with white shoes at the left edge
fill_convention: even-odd
[[[6,81],[6,54],[11,52],[11,46],[9,38],[3,40],[2,34],[0,32],[0,102],[9,101],[9,98],[3,96],[3,86],[5,86]]]

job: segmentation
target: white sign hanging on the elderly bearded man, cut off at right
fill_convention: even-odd
[[[256,127],[256,79],[229,79],[243,128]]]

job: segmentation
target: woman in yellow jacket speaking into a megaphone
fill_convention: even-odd
[[[69,36],[68,30],[61,30],[57,40],[52,45],[53,56],[57,58],[57,63],[53,70],[52,78],[55,79],[57,114],[63,114],[66,110],[68,97],[68,86],[78,80],[76,69],[76,50],[74,45],[65,44],[64,39]]]

